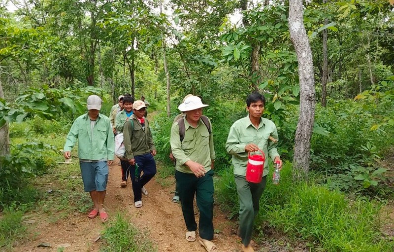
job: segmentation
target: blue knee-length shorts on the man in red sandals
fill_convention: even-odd
[[[108,181],[108,165],[107,161],[100,162],[82,162],[79,161],[81,167],[83,187],[85,192],[105,191]]]

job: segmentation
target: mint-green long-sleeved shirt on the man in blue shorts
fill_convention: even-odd
[[[79,116],[68,132],[64,151],[71,151],[77,139],[78,157],[80,159],[114,160],[114,134],[109,118],[105,115],[99,113],[93,132],[91,130],[89,114],[86,113]]]

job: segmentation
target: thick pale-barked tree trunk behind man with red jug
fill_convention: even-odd
[[[298,59],[300,87],[299,118],[294,146],[293,166],[295,177],[306,177],[309,171],[311,136],[315,119],[315,79],[312,52],[303,22],[302,0],[291,0],[289,4],[290,37]]]

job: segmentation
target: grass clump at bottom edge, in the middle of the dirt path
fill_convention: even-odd
[[[131,224],[127,214],[118,212],[102,233],[101,252],[154,252],[157,249],[146,235]]]

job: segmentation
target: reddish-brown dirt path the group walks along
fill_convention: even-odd
[[[151,117],[153,114],[150,114]],[[110,167],[107,185],[107,196],[105,205],[109,217],[113,217],[118,210],[126,211],[131,217],[132,223],[139,230],[147,231],[151,241],[156,244],[159,252],[204,252],[203,247],[196,241],[193,243],[185,240],[185,222],[182,216],[180,204],[171,202],[173,186],[163,188],[155,178],[145,187],[148,195],[143,195],[143,207],[135,208],[133,204],[131,183],[126,188],[121,188],[121,167],[117,165]],[[73,160],[77,162],[77,160]],[[158,167],[160,169],[160,167]],[[174,184],[173,178],[168,178]],[[54,188],[56,189],[56,188]],[[196,211],[197,213],[197,211]],[[26,251],[62,251],[58,248],[63,245],[65,252],[99,251],[100,236],[104,224],[99,218],[89,219],[86,214],[74,213],[66,218],[57,219],[59,213],[30,213],[25,217],[25,222],[30,225],[32,234],[29,241],[15,244],[16,252]],[[198,222],[198,216],[196,215]],[[214,209],[214,243],[221,252],[238,252],[240,243],[231,234],[234,224],[219,211]],[[39,244],[47,243],[51,247],[37,247]]]

